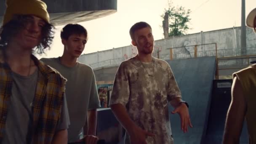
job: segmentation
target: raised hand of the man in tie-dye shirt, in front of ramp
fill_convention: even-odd
[[[189,109],[187,108],[186,104],[181,103],[178,107],[176,107],[176,109],[174,109],[172,112],[172,114],[178,113],[179,116],[181,117],[181,129],[184,133],[186,133],[188,130],[187,125],[190,126],[190,128],[192,128],[192,123],[190,121],[190,117],[189,117]]]

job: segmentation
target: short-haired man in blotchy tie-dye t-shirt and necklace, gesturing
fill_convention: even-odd
[[[154,38],[149,24],[130,29],[138,55],[123,61],[117,70],[109,105],[127,131],[126,144],[173,144],[168,102],[179,113],[181,128],[192,127],[187,104],[166,61],[152,57]]]

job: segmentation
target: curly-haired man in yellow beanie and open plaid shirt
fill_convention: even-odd
[[[43,53],[53,39],[46,5],[6,0],[6,6],[0,28],[0,143],[65,144],[66,79],[32,54]]]

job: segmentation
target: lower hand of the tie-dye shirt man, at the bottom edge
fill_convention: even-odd
[[[138,126],[135,126],[132,132],[128,134],[130,136],[131,144],[147,144],[146,142],[147,136],[155,136],[155,134],[150,133],[148,131],[144,131]]]

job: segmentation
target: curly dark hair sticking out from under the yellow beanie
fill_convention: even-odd
[[[11,21],[0,28],[0,49],[5,49],[11,38],[18,34],[21,29],[24,29],[28,22],[28,17],[31,17],[31,15],[16,14]],[[54,29],[55,27],[52,24],[45,22],[40,43],[35,48],[36,53],[42,54],[45,53],[46,49],[50,49],[54,37]]]

